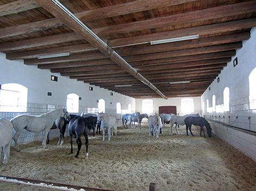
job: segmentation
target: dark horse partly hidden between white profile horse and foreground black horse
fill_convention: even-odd
[[[63,142],[64,142],[66,124],[67,124],[67,121],[66,121],[65,117],[59,117],[55,120],[55,122],[52,125],[51,129],[58,129],[59,130],[59,140],[58,140],[57,145],[62,145]],[[47,135],[47,144],[49,144],[49,133]]]

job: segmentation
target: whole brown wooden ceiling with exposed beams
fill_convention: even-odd
[[[0,0],[0,52],[134,98],[202,95],[256,26],[256,1],[60,3],[122,58],[101,48],[50,0]],[[194,34],[199,38],[150,43]],[[70,55],[38,59],[57,53]]]

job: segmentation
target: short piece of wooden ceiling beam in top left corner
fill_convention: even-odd
[[[30,9],[36,9],[39,5],[33,0],[18,0],[11,3],[0,5],[0,17],[11,15]]]

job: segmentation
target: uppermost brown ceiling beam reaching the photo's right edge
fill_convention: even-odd
[[[157,27],[181,25],[202,20],[217,19],[221,17],[237,16],[256,12],[256,1],[235,3],[230,5],[216,6],[214,8],[202,9],[191,12],[179,13],[166,17],[146,19],[139,22],[124,23],[119,25],[104,26],[92,29],[98,36],[109,36],[112,34],[128,33],[154,29]]]

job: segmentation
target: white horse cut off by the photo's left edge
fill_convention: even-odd
[[[2,150],[0,164],[6,164],[9,160],[13,129],[14,126],[9,120],[0,119],[0,148]]]

